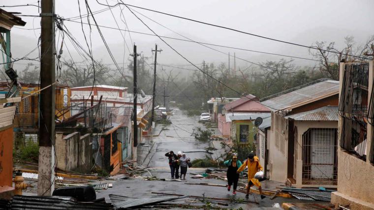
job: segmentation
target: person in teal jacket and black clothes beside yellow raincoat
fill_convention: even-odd
[[[238,160],[238,154],[233,153],[232,159],[226,160],[223,162],[227,166],[227,191],[230,191],[231,185],[234,184],[234,190],[232,191],[233,195],[236,195],[236,187],[238,186],[239,174],[236,173],[237,170],[242,166],[242,162]]]

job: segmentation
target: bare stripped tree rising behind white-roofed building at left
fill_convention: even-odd
[[[95,62],[93,65],[74,63],[72,60],[63,61],[61,81],[70,87],[93,85],[94,79],[95,84],[109,84],[109,80],[113,80],[108,80],[110,71],[102,62]]]

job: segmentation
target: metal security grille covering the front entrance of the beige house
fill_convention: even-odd
[[[337,184],[337,129],[312,128],[303,134],[303,184]]]

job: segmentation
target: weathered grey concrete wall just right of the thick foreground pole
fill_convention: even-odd
[[[56,133],[57,167],[63,170],[88,173],[92,167],[91,134],[80,136],[73,132],[63,136]]]

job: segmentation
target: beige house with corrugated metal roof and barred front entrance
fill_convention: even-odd
[[[270,179],[336,187],[339,81],[319,79],[270,96]]]

